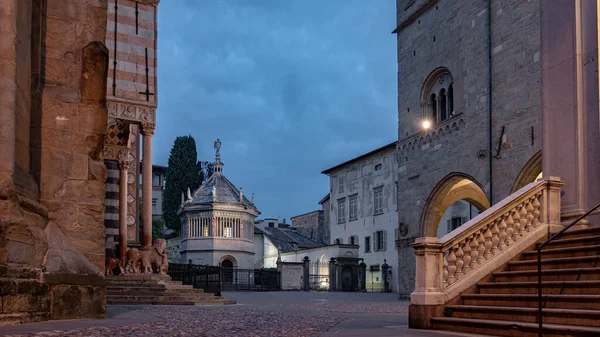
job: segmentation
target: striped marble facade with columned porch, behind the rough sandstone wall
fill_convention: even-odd
[[[158,4],[158,0],[110,0],[107,7],[104,41],[110,60],[104,162],[109,257],[123,258],[128,246],[152,243]]]

